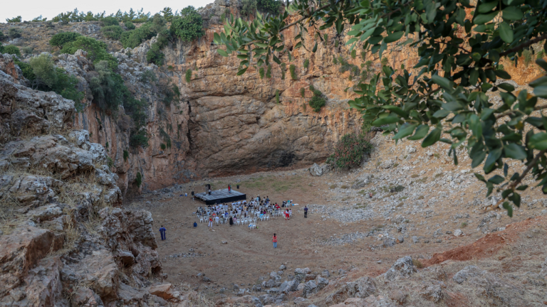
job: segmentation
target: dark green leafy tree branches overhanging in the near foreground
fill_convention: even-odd
[[[547,0],[480,0],[476,6],[469,0],[345,0],[320,7],[316,1],[295,0],[289,10],[299,18],[293,23],[286,23],[287,10],[277,16],[257,14],[250,22],[231,18],[214,42],[226,47],[217,50],[221,55],[237,53],[238,75],[250,65],[281,64],[281,55],[291,60],[293,50],[281,37],[291,26],[298,28],[294,49],[302,48],[303,34],[311,29],[323,40],[321,30],[334,28],[341,35],[347,26],[350,50],[362,48],[381,59],[392,45],[415,47],[417,75],[382,63],[381,74],[369,83],[360,80],[354,90],[360,97],[350,106],[384,127],[385,134],[394,134],[393,139],[422,140],[423,147],[437,141],[450,144],[455,164],[456,149],[467,147],[473,168],[484,163],[486,174],[502,171],[490,178],[476,173],[487,195],[496,190],[503,200],[520,206],[519,191],[528,188],[521,182],[528,174],[547,193],[547,117],[532,114],[547,107],[538,105],[538,97],[547,98],[547,76],[530,83],[533,95],[514,92],[513,85],[503,82],[511,76],[499,62],[509,58],[518,63],[524,50],[546,40],[546,7]],[[311,51],[316,49],[317,42]],[[536,63],[547,70],[543,59]],[[499,91],[504,103],[489,102],[489,90]],[[526,168],[509,173],[511,160],[523,161]],[[509,201],[503,206],[512,215]]]

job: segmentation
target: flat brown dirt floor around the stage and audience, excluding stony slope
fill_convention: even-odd
[[[199,290],[211,293],[219,293],[219,289],[223,287],[231,289],[233,284],[245,286],[258,284],[259,276],[267,275],[270,271],[278,271],[281,264],[286,264],[288,272],[297,267],[309,267],[312,271],[323,271],[323,269],[338,271],[338,269],[350,270],[355,266],[360,268],[359,275],[377,276],[385,272],[396,259],[405,255],[411,255],[414,259],[431,257],[437,259],[437,261],[434,259],[424,261],[427,265],[452,258],[468,260],[489,257],[504,247],[504,239],[498,239],[494,244],[480,245],[482,249],[479,251],[464,250],[463,253],[467,257],[462,259],[459,259],[457,252],[444,257],[434,256],[436,253],[458,247],[465,249],[467,245],[473,244],[476,239],[484,236],[481,232],[474,232],[472,235],[463,237],[445,235],[442,243],[396,244],[390,248],[380,247],[375,250],[371,250],[370,247],[381,244],[377,241],[377,237],[365,237],[351,244],[338,246],[323,245],[322,240],[335,234],[369,232],[379,225],[386,225],[383,217],[353,223],[342,223],[334,219],[323,221],[321,213],[311,213],[308,219],[303,218],[303,213],[300,212],[303,206],[312,205],[313,208],[313,204],[327,203],[326,200],[332,197],[328,182],[343,180],[344,176],[345,174],[333,173],[318,180],[309,176],[308,171],[304,169],[219,178],[214,181],[185,185],[187,193],[191,190],[200,192],[206,182],[212,183],[213,188],[223,188],[227,183],[232,183],[235,187],[239,179],[241,181],[239,190],[246,193],[248,197],[268,195],[274,202],[281,203],[282,200],[292,199],[294,203],[299,204],[293,207],[294,215],[291,220],[274,217],[269,221],[258,222],[258,230],[249,230],[243,225],[233,227],[219,225],[211,231],[199,220],[197,220],[198,227],[194,229],[192,224],[196,219],[192,212],[195,212],[203,203],[193,201],[190,197],[176,195],[173,198],[158,199],[155,195],[146,195],[131,205],[150,210],[156,227],[159,229],[163,225],[167,228],[167,240],[158,241],[158,252],[162,259],[163,270],[169,275],[168,280],[173,284],[186,281],[195,287],[200,286]],[[266,178],[266,183],[262,182],[264,179],[249,178]],[[147,201],[150,201],[150,205],[146,204]],[[452,214],[452,210],[447,210],[445,214]],[[444,218],[446,217],[443,215],[433,217],[429,221],[434,223],[435,220]],[[523,218],[516,216],[509,220],[509,217],[505,217],[503,221],[498,222],[505,226],[508,222],[518,220]],[[419,222],[419,220],[413,220],[413,222]],[[271,235],[274,232],[279,240],[277,249],[273,249],[271,244]],[[157,235],[159,238],[159,233]],[[416,232],[415,235],[420,235],[420,232]],[[499,238],[497,235],[489,236]],[[227,243],[222,244],[223,241]],[[190,249],[194,249],[194,252],[202,256],[170,257],[174,254],[189,253]],[[202,278],[197,278],[199,273],[205,274],[212,282],[206,283],[202,281]]]

